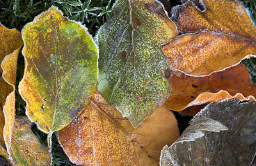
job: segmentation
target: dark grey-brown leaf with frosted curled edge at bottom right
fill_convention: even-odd
[[[161,165],[250,165],[256,151],[255,109],[255,101],[237,99],[207,105],[173,145],[163,148]]]

